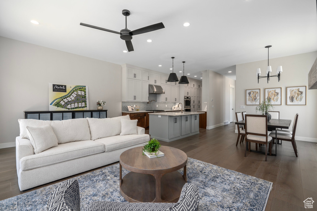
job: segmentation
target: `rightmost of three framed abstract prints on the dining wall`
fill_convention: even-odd
[[[306,105],[306,86],[286,88],[286,105]]]

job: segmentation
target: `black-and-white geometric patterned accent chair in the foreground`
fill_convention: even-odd
[[[177,203],[130,203],[94,201],[87,211],[197,211],[199,191],[196,185],[185,183]],[[47,211],[80,211],[78,181],[70,179],[55,188],[46,205]]]

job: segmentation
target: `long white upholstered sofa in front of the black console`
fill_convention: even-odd
[[[121,119],[130,117],[63,121],[19,119],[16,170],[20,190],[117,162],[122,152],[150,140],[142,127],[137,127],[137,134],[120,135]],[[52,127],[58,145],[36,154],[26,127],[47,124]]]

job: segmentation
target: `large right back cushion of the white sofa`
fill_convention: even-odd
[[[130,120],[130,116],[118,116],[113,118],[87,118],[91,140],[120,135],[121,119]]]

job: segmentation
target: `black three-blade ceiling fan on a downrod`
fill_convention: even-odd
[[[129,16],[130,15],[130,11],[127,10],[127,9],[124,9],[124,10],[122,10],[122,15]],[[120,38],[122,40],[126,40],[126,47],[128,48],[129,52],[130,51],[134,51],[133,50],[133,45],[132,45],[132,42],[131,42],[133,35],[143,34],[143,33],[152,32],[152,31],[155,31],[155,30],[158,30],[158,29],[161,29],[161,28],[165,28],[165,26],[164,26],[164,24],[162,22],[157,23],[157,24],[153,24],[153,25],[150,25],[150,26],[146,26],[146,27],[143,27],[143,28],[139,28],[139,29],[136,29],[136,30],[133,30],[133,31],[129,30],[128,28],[124,28],[120,32],[116,32],[116,31],[109,30],[109,29],[106,29],[106,28],[101,28],[101,27],[98,27],[98,26],[89,25],[89,24],[86,24],[86,23],[80,23],[80,25],[87,26],[87,27],[90,27],[90,28],[99,29],[99,30],[106,31],[106,32],[120,34]]]

